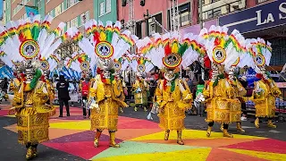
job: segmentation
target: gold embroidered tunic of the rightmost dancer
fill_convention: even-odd
[[[270,117],[275,115],[275,101],[282,92],[273,80],[259,80],[255,82],[252,101],[255,103],[257,117]]]

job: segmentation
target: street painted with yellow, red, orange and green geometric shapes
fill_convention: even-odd
[[[7,115],[8,106],[0,106],[0,158],[1,160],[25,160],[25,148],[17,143],[16,119]],[[93,147],[94,131],[89,131],[89,120],[83,119],[82,110],[71,107],[71,116],[58,118],[58,112],[50,120],[50,140],[38,148],[39,156],[33,160],[284,160],[286,158],[285,123],[276,123],[277,129],[269,129],[266,123],[256,129],[243,122],[245,133],[238,133],[235,124],[230,127],[233,139],[223,138],[219,124],[214,125],[211,138],[206,138],[206,123],[203,117],[187,115],[183,131],[184,146],[176,144],[176,132],[164,141],[164,131],[158,118],[147,120],[147,112],[131,107],[120,114],[116,141],[121,148],[108,148],[108,132],[100,138],[100,147]]]

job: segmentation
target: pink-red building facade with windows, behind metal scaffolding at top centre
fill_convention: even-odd
[[[180,26],[185,27],[191,24],[197,23],[197,11],[198,0],[179,0],[179,18]],[[122,21],[124,25],[127,25],[129,21],[129,4],[122,6],[122,0],[117,1],[118,5],[118,20]],[[140,5],[140,0],[133,1],[134,8],[134,20],[136,21],[136,35],[139,38],[145,37],[146,35],[151,35],[155,32],[163,32],[170,29],[169,23],[169,2],[166,0],[145,0],[145,5]],[[149,17],[154,17],[156,21],[149,18],[148,23],[145,22],[144,14],[148,14]],[[158,24],[159,23],[159,24]],[[161,25],[164,29],[162,29]],[[148,31],[146,30],[148,29]],[[147,33],[147,32],[148,33]]]

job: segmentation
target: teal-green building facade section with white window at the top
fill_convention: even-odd
[[[93,3],[96,21],[117,21],[116,0],[94,0]]]

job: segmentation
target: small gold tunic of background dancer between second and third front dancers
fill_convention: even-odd
[[[141,91],[136,92],[137,89],[140,89]],[[133,93],[135,98],[135,104],[136,105],[143,105],[147,106],[147,82],[145,80],[136,80],[133,84]]]

